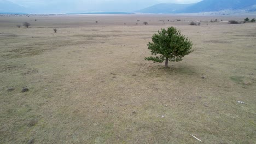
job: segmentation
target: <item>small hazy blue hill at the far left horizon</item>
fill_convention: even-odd
[[[26,11],[26,8],[9,1],[0,0],[0,13],[20,13]]]

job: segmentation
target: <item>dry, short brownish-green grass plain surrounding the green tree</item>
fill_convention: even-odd
[[[227,22],[245,17],[0,17],[0,143],[256,143],[256,23]],[[194,52],[165,69],[144,57],[168,26]]]

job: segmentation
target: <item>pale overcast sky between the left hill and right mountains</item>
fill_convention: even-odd
[[[8,0],[27,8],[52,12],[127,11],[147,8],[158,3],[195,3],[202,0]]]

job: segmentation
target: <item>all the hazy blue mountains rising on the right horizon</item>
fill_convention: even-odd
[[[156,4],[152,7],[137,10],[136,13],[203,13],[225,9],[247,9],[253,11],[256,0],[203,0],[195,4]]]

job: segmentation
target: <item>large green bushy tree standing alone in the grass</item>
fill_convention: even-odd
[[[158,31],[152,36],[152,41],[153,43],[148,43],[152,56],[145,60],[159,63],[165,61],[165,68],[168,67],[168,61],[182,61],[182,57],[194,51],[191,50],[192,41],[174,27],[168,27],[167,30],[162,28],[161,32]]]

